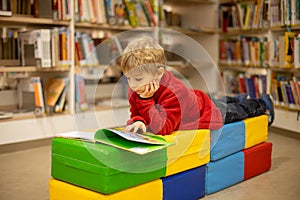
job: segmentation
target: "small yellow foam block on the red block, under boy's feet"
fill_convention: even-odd
[[[243,120],[245,123],[245,149],[253,147],[268,139],[268,116],[260,115],[257,117]]]

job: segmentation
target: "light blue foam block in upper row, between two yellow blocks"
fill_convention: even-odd
[[[245,123],[243,121],[225,124],[221,129],[211,131],[210,160],[215,161],[239,152],[245,146]]]

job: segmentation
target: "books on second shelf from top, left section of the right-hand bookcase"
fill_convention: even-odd
[[[269,44],[266,37],[240,36],[219,40],[219,61],[226,65],[267,67]]]

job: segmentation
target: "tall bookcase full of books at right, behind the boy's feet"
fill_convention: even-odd
[[[263,88],[256,97],[272,95],[276,111],[273,126],[299,132],[300,55],[296,49],[300,2],[278,2],[219,1],[219,68],[230,95],[245,91],[243,84],[249,78],[264,74],[266,80],[256,79],[251,87]]]

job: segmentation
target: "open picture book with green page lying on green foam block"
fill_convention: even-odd
[[[57,137],[79,139],[94,143],[103,143],[136,154],[146,154],[172,145],[162,136],[152,133],[132,133],[116,129],[100,129],[96,132],[67,132]]]

